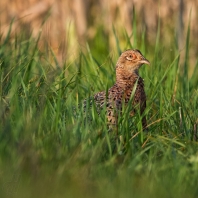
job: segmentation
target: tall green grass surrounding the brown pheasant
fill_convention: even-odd
[[[105,42],[99,51],[92,43],[63,65],[52,51],[39,50],[39,36],[1,39],[1,197],[197,197],[198,71],[196,64],[188,76],[190,35],[182,65],[176,45],[160,34],[147,48],[145,32],[134,33],[135,47],[151,62],[140,71],[150,126],[142,132],[141,117],[129,119],[126,109],[117,129],[123,147],[108,133],[105,111],[99,117],[94,107],[78,108],[115,81],[121,46],[112,31],[113,56]],[[134,47],[124,37],[122,50]]]

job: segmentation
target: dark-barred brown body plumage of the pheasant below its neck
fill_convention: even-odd
[[[138,107],[138,104],[140,104],[140,113],[142,114],[146,108],[146,94],[144,92],[144,81],[139,76],[135,78],[132,76],[132,78],[129,79],[129,83],[126,82],[125,89],[116,83],[108,90],[108,95],[106,95],[105,91],[94,95],[94,101],[97,107],[102,109],[106,104],[108,123],[117,123],[117,113],[118,111],[122,111],[123,102],[125,105],[129,103],[136,81],[137,86],[134,98],[132,99],[132,107],[134,108],[132,108],[130,115],[134,115],[135,107]],[[143,117],[142,125],[144,128],[147,126],[146,117]]]

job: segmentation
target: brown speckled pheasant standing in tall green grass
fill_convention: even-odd
[[[124,51],[116,63],[116,82],[108,89],[96,93],[91,103],[94,101],[97,110],[103,109],[106,105],[107,123],[116,125],[118,123],[118,113],[122,113],[123,104],[128,105],[132,102],[130,116],[134,116],[137,108],[143,115],[146,108],[146,94],[144,90],[144,80],[139,76],[139,68],[143,64],[150,65],[150,62],[142,55],[138,49],[128,49]],[[135,89],[135,90],[134,90]],[[134,91],[133,91],[134,90]],[[131,100],[131,97],[133,98]],[[87,100],[84,101],[86,108]],[[142,127],[147,128],[146,117],[142,117]]]

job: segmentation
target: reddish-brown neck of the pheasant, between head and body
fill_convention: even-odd
[[[132,88],[139,78],[138,70],[128,72],[123,69],[116,69],[116,84],[123,89]]]

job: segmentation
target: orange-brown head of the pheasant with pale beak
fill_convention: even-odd
[[[116,69],[123,69],[129,73],[138,72],[138,69],[143,64],[150,64],[150,62],[137,49],[126,50],[121,54],[116,64]]]

